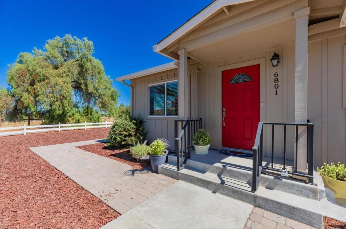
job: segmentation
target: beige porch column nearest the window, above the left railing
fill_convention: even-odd
[[[178,51],[178,118],[188,119],[188,53],[185,49]]]

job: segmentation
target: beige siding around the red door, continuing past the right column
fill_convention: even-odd
[[[334,34],[336,34],[334,36]],[[321,35],[319,35],[321,36]],[[328,37],[331,36],[331,37]],[[308,119],[315,124],[315,166],[324,162],[346,163],[346,44],[345,34],[331,32],[325,38],[308,43]],[[317,36],[317,38],[319,38]],[[280,55],[280,64],[270,62],[274,51]],[[265,122],[294,122],[295,46],[285,45],[261,52],[224,59],[200,67],[198,77],[198,113],[210,133],[212,148],[222,147],[222,85],[217,69],[221,66],[265,58],[264,115]],[[274,74],[279,76],[278,94],[275,95]],[[262,77],[262,76],[261,76]],[[262,91],[262,90],[261,90]],[[283,128],[275,127],[274,157],[283,156]],[[294,128],[287,127],[286,153],[294,159]],[[265,156],[271,155],[271,128],[264,129]]]

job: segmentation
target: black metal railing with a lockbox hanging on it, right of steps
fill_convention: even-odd
[[[272,144],[271,144],[271,166],[263,166],[263,126],[272,126]],[[252,162],[252,190],[257,191],[260,183],[260,176],[262,169],[271,170],[275,172],[281,172],[281,170],[274,168],[274,126],[283,126],[283,170],[286,169],[286,130],[287,126],[295,126],[295,163],[293,171],[287,171],[288,174],[298,175],[301,177],[307,177],[309,183],[313,183],[313,123],[277,123],[277,122],[260,122],[258,123],[257,134],[255,139],[255,145],[252,148],[253,151],[253,162]],[[308,174],[298,173],[297,169],[297,158],[298,158],[298,127],[307,127],[307,164]]]

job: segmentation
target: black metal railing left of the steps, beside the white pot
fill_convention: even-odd
[[[175,120],[175,153],[176,168],[184,168],[186,161],[191,158],[192,136],[202,128],[202,118],[189,120]],[[178,136],[178,131],[180,131]]]

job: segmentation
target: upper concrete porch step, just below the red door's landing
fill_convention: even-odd
[[[176,156],[169,155],[168,163],[176,167]],[[193,159],[186,162],[185,169],[201,171],[202,173],[217,174],[219,177],[235,180],[252,186],[252,170],[248,167],[235,166],[225,163],[203,163]],[[269,190],[276,190],[290,193],[304,198],[320,200],[325,198],[324,189],[319,190],[319,186],[306,184],[293,178],[282,178],[275,175],[261,174],[260,186]],[[322,186],[323,187],[323,186]]]

